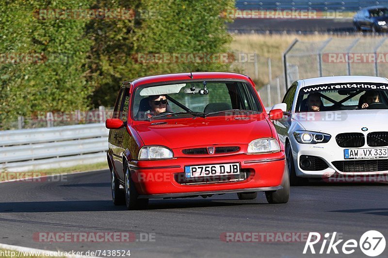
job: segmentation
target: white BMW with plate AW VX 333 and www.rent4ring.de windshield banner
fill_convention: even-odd
[[[294,82],[273,121],[292,185],[306,178],[388,174],[388,79],[332,76]]]

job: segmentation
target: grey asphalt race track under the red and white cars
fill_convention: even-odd
[[[277,205],[268,204],[261,193],[249,201],[235,194],[153,199],[148,210],[126,211],[111,202],[109,171],[61,181],[0,183],[0,243],[62,251],[125,249],[131,257],[301,257],[305,242],[226,243],[220,235],[336,231],[345,241],[359,241],[364,232],[378,230],[388,237],[387,185],[291,187],[289,203]],[[36,232],[133,232],[138,240],[140,233],[151,233],[155,241],[47,243],[34,240]],[[367,256],[357,247],[352,255],[332,251],[331,257]]]

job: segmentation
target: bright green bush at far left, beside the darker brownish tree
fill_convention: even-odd
[[[37,9],[88,8],[88,0],[12,0],[0,4],[0,122],[3,129],[18,115],[88,108],[86,20],[39,19]],[[12,63],[11,54],[36,57]]]

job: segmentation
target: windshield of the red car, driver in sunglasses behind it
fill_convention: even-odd
[[[226,110],[255,113],[262,108],[252,86],[240,81],[194,81],[139,87],[134,94],[135,120],[156,119],[174,113],[188,115],[225,115]]]

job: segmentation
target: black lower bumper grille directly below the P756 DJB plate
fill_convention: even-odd
[[[175,175],[175,181],[180,184],[203,184],[203,183],[222,183],[222,182],[237,182],[245,180],[249,177],[249,169],[241,169],[240,174],[212,176],[212,177],[194,177],[186,178],[185,173]]]

